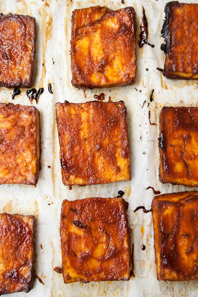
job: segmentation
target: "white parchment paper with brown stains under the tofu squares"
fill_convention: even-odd
[[[168,80],[157,67],[164,66],[164,53],[160,50],[163,38],[160,31],[164,18],[164,6],[168,1],[136,2],[82,0],[2,0],[0,9],[3,14],[9,12],[28,14],[36,19],[36,55],[32,87],[44,87],[38,104],[33,101],[40,112],[41,124],[41,165],[37,187],[27,185],[1,185],[0,211],[11,214],[34,214],[36,217],[36,274],[44,285],[36,279],[34,288],[28,293],[35,296],[197,296],[198,283],[157,281],[154,262],[154,240],[151,213],[133,210],[144,205],[150,208],[153,191],[148,186],[160,190],[161,193],[190,190],[183,186],[162,185],[158,179],[159,152],[157,137],[159,135],[159,113],[166,106],[198,106],[197,81]],[[185,2],[196,2],[186,0]],[[133,6],[137,15],[137,42],[139,41],[142,5],[148,19],[148,40],[155,47],[137,45],[136,84],[109,89],[78,90],[71,85],[70,71],[70,34],[71,16],[75,8],[93,5],[106,5],[111,9]],[[53,59],[53,60],[52,60]],[[53,63],[54,61],[54,63]],[[43,64],[43,65],[42,65]],[[148,71],[146,71],[146,68]],[[53,94],[48,92],[51,83]],[[154,100],[149,98],[154,89]],[[30,105],[26,89],[12,100],[13,89],[0,88],[0,101]],[[85,102],[94,100],[94,94],[105,94],[105,101],[111,96],[112,101],[125,101],[131,152],[131,175],[129,182],[119,182],[96,186],[63,186],[59,161],[58,133],[55,123],[55,103]],[[150,105],[143,102],[147,100]],[[150,121],[157,123],[151,126]],[[141,136],[141,139],[140,139]],[[48,165],[51,168],[48,168]],[[65,285],[62,275],[53,271],[61,266],[61,249],[59,237],[60,212],[62,201],[83,199],[86,197],[114,197],[118,190],[123,190],[123,198],[129,202],[129,226],[133,228],[131,243],[134,243],[135,278],[130,281],[90,282],[88,284],[72,283]],[[42,244],[43,249],[40,245]],[[141,245],[146,246],[142,251]],[[25,297],[27,293],[15,293],[12,297]]]

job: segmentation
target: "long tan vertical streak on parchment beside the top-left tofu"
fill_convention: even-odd
[[[41,79],[39,82],[39,87],[43,87],[44,78],[46,76],[46,48],[47,48],[47,42],[49,39],[51,39],[52,35],[52,14],[50,12],[50,3],[51,1],[45,1],[44,5],[38,10],[41,14],[42,19],[42,44],[43,44],[43,67],[42,67],[42,73],[41,73]]]

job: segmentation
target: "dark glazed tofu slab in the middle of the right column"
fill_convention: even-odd
[[[163,107],[158,140],[160,181],[198,187],[198,108]]]

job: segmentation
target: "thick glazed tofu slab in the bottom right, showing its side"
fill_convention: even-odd
[[[198,193],[155,196],[151,208],[157,279],[198,280]]]

